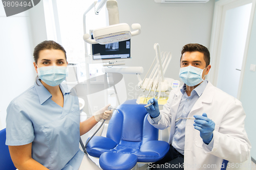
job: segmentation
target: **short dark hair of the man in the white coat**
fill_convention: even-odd
[[[210,64],[210,52],[207,47],[201,45],[201,44],[186,44],[183,46],[182,51],[181,51],[181,57],[180,61],[182,58],[182,55],[185,52],[200,52],[204,54],[204,61],[206,63],[206,67]]]

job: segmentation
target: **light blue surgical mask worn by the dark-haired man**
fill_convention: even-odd
[[[202,79],[204,69],[197,68],[191,65],[187,67],[182,67],[180,68],[179,78],[181,78],[181,80],[188,86],[196,86],[204,81],[204,79]]]

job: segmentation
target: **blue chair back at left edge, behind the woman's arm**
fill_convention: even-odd
[[[6,129],[0,131],[0,169],[5,170],[15,170],[16,167],[14,166],[9,148],[5,144],[6,141]]]

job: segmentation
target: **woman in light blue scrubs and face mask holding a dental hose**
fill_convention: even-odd
[[[38,77],[7,108],[6,144],[19,170],[100,169],[79,149],[79,137],[102,118],[110,119],[113,112],[107,105],[80,123],[76,92],[60,84],[67,76],[67,64],[61,45],[39,43],[34,49]]]

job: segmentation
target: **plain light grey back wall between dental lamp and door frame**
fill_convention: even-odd
[[[131,39],[131,57],[125,66],[142,66],[144,78],[155,57],[154,44],[173,53],[165,77],[179,79],[181,48],[187,43],[209,47],[215,1],[206,4],[157,4],[154,0],[118,1],[120,23],[140,23],[141,34]],[[136,75],[124,75],[127,99],[143,94]]]

